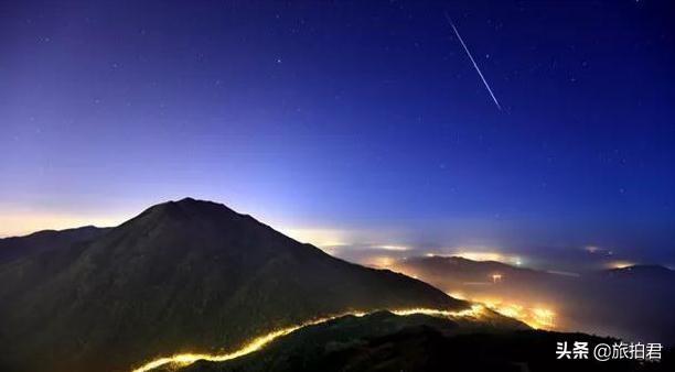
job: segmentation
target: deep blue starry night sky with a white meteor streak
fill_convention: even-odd
[[[675,264],[668,2],[3,1],[0,236],[192,196],[353,252]]]

